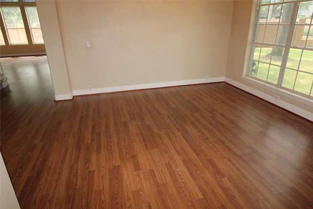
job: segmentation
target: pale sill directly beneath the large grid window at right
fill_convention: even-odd
[[[260,86],[260,87],[263,87],[265,89],[268,89],[270,91],[282,94],[282,95],[287,96],[287,97],[289,97],[291,99],[298,100],[298,101],[300,101],[300,102],[302,102],[304,104],[313,106],[313,99],[311,99],[309,97],[305,97],[305,96],[301,96],[301,95],[296,94],[296,93],[289,92],[289,91],[287,91],[285,89],[281,89],[281,88],[272,86],[270,84],[264,83],[262,81],[259,81],[259,80],[253,79],[253,78],[250,78],[248,76],[241,76],[241,78],[243,80],[249,82],[249,83],[252,83],[252,84],[255,84],[257,86]]]

